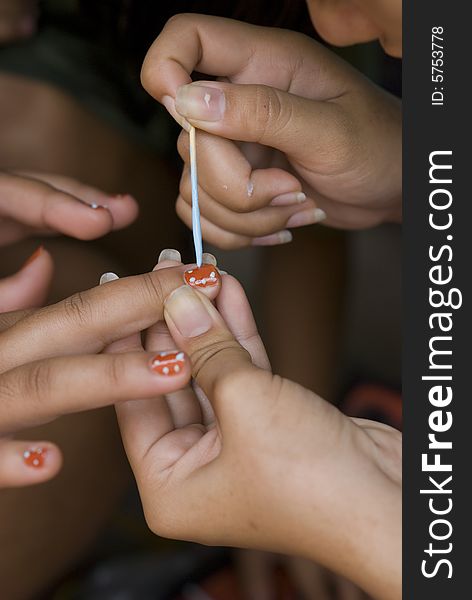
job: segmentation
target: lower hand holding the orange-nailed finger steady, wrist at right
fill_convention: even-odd
[[[400,434],[267,370],[247,300],[227,275],[216,308],[183,286],[164,317],[197,395],[117,407],[151,529],[302,555],[398,598]]]

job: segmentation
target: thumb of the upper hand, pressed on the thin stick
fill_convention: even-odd
[[[198,81],[181,86],[176,111],[204,131],[271,146],[297,160],[342,148],[346,120],[334,102],[321,102],[266,85]],[[332,157],[332,155],[331,155]]]

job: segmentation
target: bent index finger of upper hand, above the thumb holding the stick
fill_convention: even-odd
[[[339,93],[340,74],[346,77],[346,65],[305,36],[220,17],[176,15],[149,49],[141,81],[165,102],[190,83],[194,71],[278,89],[292,85],[294,93],[309,87],[323,99]]]

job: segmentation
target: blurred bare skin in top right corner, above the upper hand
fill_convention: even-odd
[[[387,54],[402,56],[400,0],[307,0],[311,20],[334,46],[379,40]]]

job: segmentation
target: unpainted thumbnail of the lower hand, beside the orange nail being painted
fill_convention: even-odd
[[[212,319],[205,305],[192,288],[183,285],[167,298],[165,314],[183,337],[192,338],[206,333]]]

